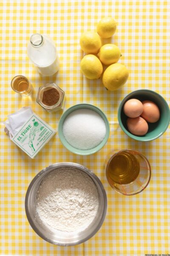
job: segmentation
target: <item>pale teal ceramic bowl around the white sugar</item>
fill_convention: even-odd
[[[65,140],[63,131],[62,131],[62,125],[65,121],[65,118],[73,111],[77,110],[77,109],[81,109],[81,108],[88,108],[91,109],[93,111],[96,111],[96,113],[98,113],[102,119],[105,122],[106,125],[106,134],[105,134],[105,138],[104,140],[97,145],[95,148],[91,148],[88,150],[81,150],[81,149],[77,149],[74,148],[73,146],[71,146],[67,140]],[[99,151],[108,141],[108,137],[109,137],[109,133],[110,133],[110,126],[109,126],[109,122],[107,117],[105,116],[105,114],[96,106],[91,105],[91,104],[78,104],[78,105],[74,105],[71,108],[68,108],[61,116],[60,120],[59,120],[59,125],[58,125],[58,134],[59,134],[59,139],[61,140],[62,145],[65,146],[65,148],[67,148],[69,151],[71,151],[74,154],[79,154],[79,155],[89,155],[89,154],[94,154],[97,151]]]

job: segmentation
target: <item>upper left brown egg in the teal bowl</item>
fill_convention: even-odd
[[[138,99],[129,99],[127,102],[125,102],[125,105],[123,107],[123,112],[126,116],[129,117],[138,117],[143,112],[143,105],[142,102]]]

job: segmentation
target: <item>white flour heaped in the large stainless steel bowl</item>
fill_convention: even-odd
[[[95,183],[73,167],[50,172],[37,191],[38,215],[44,224],[57,230],[84,230],[93,221],[98,207]]]

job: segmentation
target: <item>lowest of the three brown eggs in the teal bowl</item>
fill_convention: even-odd
[[[141,117],[127,118],[127,128],[129,131],[137,136],[142,136],[147,133],[148,125],[147,122]]]

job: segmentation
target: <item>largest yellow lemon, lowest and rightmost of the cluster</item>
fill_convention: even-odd
[[[103,84],[108,90],[117,90],[127,81],[129,71],[119,63],[109,66],[103,73]]]

